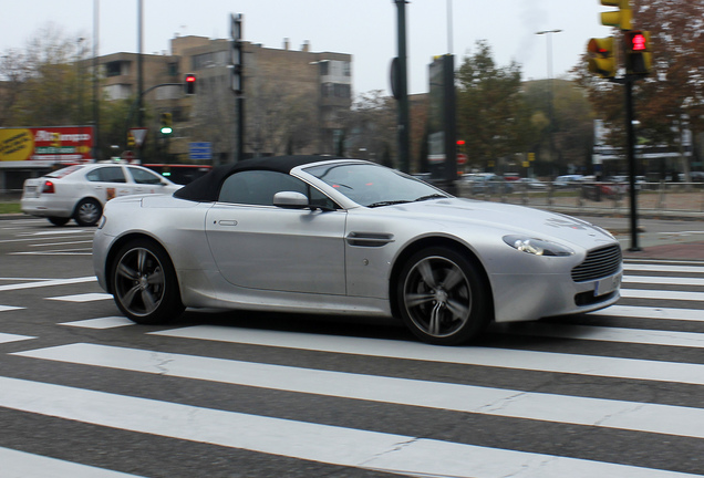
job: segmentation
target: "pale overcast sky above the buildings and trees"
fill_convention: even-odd
[[[23,48],[41,28],[54,23],[69,37],[92,38],[96,0],[7,1],[0,15],[0,54]],[[99,54],[136,52],[137,0],[97,0]],[[168,53],[174,35],[229,37],[230,13],[242,13],[245,40],[280,49],[309,41],[311,51],[353,55],[354,93],[390,92],[389,69],[396,55],[396,4],[392,0],[143,0],[144,52]],[[452,46],[448,41],[452,8]],[[591,37],[607,37],[599,22],[598,0],[410,0],[406,4],[408,91],[427,91],[427,65],[434,55],[454,53],[456,65],[476,50],[477,40],[491,46],[499,66],[511,60],[522,76],[548,76],[548,40],[542,30],[562,30],[552,38],[552,72],[567,73]],[[452,48],[452,51],[451,51]]]

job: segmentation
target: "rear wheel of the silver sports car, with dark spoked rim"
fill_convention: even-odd
[[[166,323],[184,311],[174,266],[152,240],[135,239],[122,247],[110,274],[115,304],[133,322]]]

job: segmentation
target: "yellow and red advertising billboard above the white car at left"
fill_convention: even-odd
[[[93,126],[0,128],[0,167],[87,163],[93,137]]]

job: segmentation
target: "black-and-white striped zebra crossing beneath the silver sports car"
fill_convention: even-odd
[[[0,294],[0,353],[42,372],[0,372],[0,412],[231,454],[224,468],[200,457],[203,476],[702,477],[704,263],[629,261],[622,292],[603,311],[496,326],[460,347],[207,320],[141,328],[115,315],[58,320],[91,333],[34,346],[41,336],[2,331],[12,309]],[[75,377],[46,380],[54,370]],[[90,381],[99,376],[105,386]],[[121,385],[126,376],[146,386]],[[2,444],[0,478],[194,476]],[[273,475],[267,464],[282,458],[298,474]]]

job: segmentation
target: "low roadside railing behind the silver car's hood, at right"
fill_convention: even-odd
[[[639,215],[704,219],[704,183],[638,183],[635,187]],[[630,214],[628,184],[578,183],[556,187],[549,183],[464,183],[457,191],[466,198],[570,214]]]

